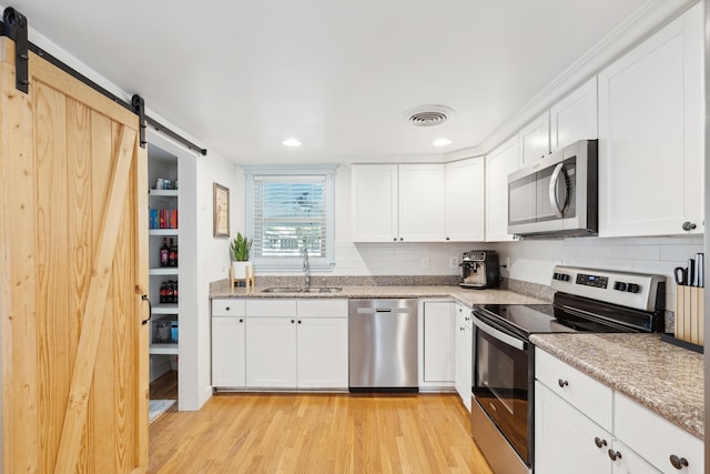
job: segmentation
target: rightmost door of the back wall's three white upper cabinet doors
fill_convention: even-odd
[[[480,242],[485,239],[485,194],[483,157],[446,164],[446,240]]]

